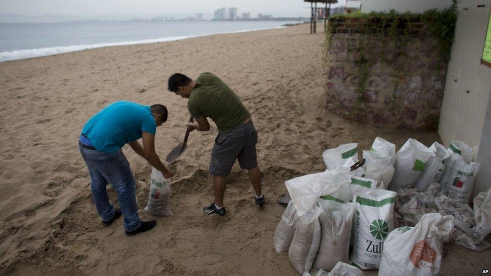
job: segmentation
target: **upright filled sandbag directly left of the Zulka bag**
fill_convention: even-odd
[[[313,267],[331,270],[338,261],[348,261],[355,204],[319,199],[318,205],[321,235]]]

